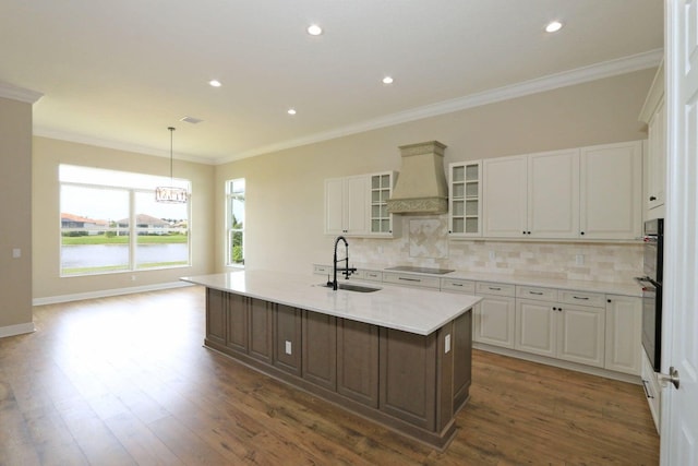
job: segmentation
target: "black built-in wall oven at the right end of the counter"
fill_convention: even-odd
[[[645,276],[637,277],[642,287],[642,347],[654,371],[662,361],[662,282],[664,262],[664,219],[645,223]]]

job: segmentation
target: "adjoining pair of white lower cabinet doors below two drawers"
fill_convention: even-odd
[[[602,368],[604,313],[603,308],[518,299],[515,349]]]

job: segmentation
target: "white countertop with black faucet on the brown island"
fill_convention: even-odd
[[[482,298],[385,283],[378,291],[334,291],[323,277],[272,271],[238,271],[182,277],[184,282],[388,328],[429,335]],[[344,277],[341,278],[344,282]]]

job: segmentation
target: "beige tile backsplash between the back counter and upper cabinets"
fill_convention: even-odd
[[[399,238],[352,238],[352,261],[611,283],[642,272],[640,243],[448,240],[446,215],[396,220],[402,222]]]

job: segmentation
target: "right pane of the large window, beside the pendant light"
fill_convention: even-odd
[[[188,204],[155,202],[152,191],[135,193],[136,268],[189,265],[188,212]]]

